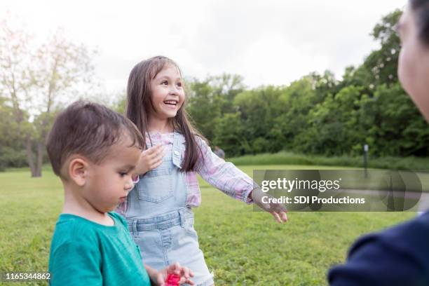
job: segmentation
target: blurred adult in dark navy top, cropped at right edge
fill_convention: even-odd
[[[402,49],[398,75],[429,121],[429,0],[410,0],[397,25]],[[338,285],[429,285],[429,212],[357,240],[346,264],[328,273]]]

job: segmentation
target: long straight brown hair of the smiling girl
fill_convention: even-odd
[[[180,74],[182,74],[179,66],[177,66],[173,60],[170,60],[168,57],[156,56],[136,64],[131,70],[130,77],[128,78],[125,115],[137,125],[137,128],[143,135],[149,135],[149,112],[151,108],[154,110],[153,103],[151,102],[151,80],[153,80],[164,67],[168,67],[169,65],[176,67]],[[195,136],[199,136],[203,140],[206,139],[203,135],[200,135],[198,130],[196,130],[189,121],[186,111],[184,110],[185,105],[186,99],[182,107],[177,111],[177,115],[174,118],[170,118],[170,123],[175,130],[182,133],[185,137],[186,151],[181,171],[188,172],[195,170],[198,160],[197,152],[201,151]],[[144,142],[143,149],[147,149],[146,142]]]

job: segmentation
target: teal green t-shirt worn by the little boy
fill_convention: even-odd
[[[50,245],[50,285],[151,285],[125,219],[109,215],[114,226],[60,214]]]

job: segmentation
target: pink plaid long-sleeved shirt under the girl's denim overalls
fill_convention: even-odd
[[[162,144],[165,152],[172,151],[173,133],[161,134],[160,132],[151,132],[150,137],[152,142],[146,136],[148,147]],[[203,139],[197,136],[196,141],[201,152],[198,152],[195,171],[186,172],[186,205],[188,207],[198,207],[201,204],[201,192],[197,172],[205,181],[223,191],[226,195],[237,200],[242,200],[245,203],[252,203],[249,194],[254,189],[253,180],[233,165],[233,163],[225,162],[224,159],[214,154]],[[116,212],[125,214],[126,210],[127,201],[125,200],[121,205],[118,205]]]

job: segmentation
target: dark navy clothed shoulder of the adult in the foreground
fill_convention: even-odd
[[[429,213],[358,239],[331,285],[429,285]]]

